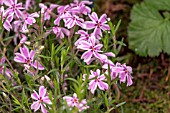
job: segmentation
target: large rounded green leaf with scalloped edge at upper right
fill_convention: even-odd
[[[129,47],[140,56],[170,54],[170,0],[145,0],[131,11]]]

